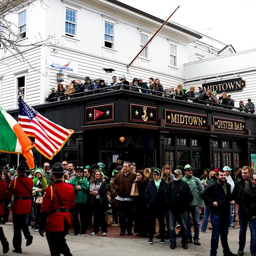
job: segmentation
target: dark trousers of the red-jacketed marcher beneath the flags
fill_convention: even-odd
[[[26,223],[26,217],[26,214],[14,214],[12,216],[14,229],[12,244],[14,249],[22,247],[22,231],[26,239],[29,237],[30,232]]]

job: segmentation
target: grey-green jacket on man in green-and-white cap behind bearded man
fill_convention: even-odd
[[[200,197],[200,194],[204,190],[201,181],[197,177],[194,177],[194,176],[191,176],[191,178],[184,176],[184,177],[182,177],[182,180],[188,184],[188,186],[191,190],[191,193],[194,197],[193,201],[189,204],[189,206],[204,205],[204,201]]]

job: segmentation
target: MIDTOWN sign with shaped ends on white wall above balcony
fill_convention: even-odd
[[[242,78],[235,78],[223,81],[215,81],[203,83],[202,87],[204,91],[210,90],[211,92],[217,92],[217,94],[222,92],[237,92],[242,91],[245,87],[245,81]]]

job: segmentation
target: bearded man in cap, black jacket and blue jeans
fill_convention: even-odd
[[[180,169],[174,171],[174,181],[167,184],[165,190],[165,201],[169,210],[169,238],[170,248],[176,247],[175,224],[178,220],[181,225],[181,243],[184,249],[187,249],[187,209],[193,195],[187,183],[181,180],[182,172]]]

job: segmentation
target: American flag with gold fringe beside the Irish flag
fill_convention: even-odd
[[[45,118],[19,97],[18,122],[28,136],[35,137],[38,152],[52,160],[74,130],[66,129]]]

